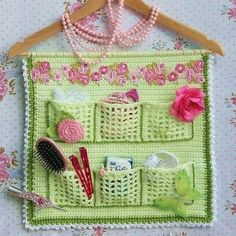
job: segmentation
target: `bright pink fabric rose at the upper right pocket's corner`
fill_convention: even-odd
[[[171,114],[183,122],[192,122],[204,111],[205,94],[200,88],[183,86],[176,91]]]

